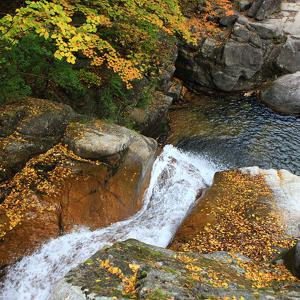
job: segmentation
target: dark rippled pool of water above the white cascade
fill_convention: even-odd
[[[254,98],[192,97],[193,105],[171,113],[171,143],[220,158],[231,168],[300,175],[300,118],[276,114]]]

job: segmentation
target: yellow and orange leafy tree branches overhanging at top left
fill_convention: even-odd
[[[172,35],[180,33],[190,38],[189,31],[182,25],[177,1],[27,1],[27,6],[16,10],[14,16],[7,15],[0,20],[2,38],[16,43],[22,36],[34,32],[55,44],[54,56],[75,64],[79,54],[85,55],[93,66],[106,66],[119,74],[128,88],[131,82],[142,77],[138,68],[142,61],[139,56],[124,55],[99,29],[110,28],[113,24],[131,24],[133,32],[141,38],[146,32],[145,24],[152,24]],[[134,24],[142,31],[134,32]],[[127,41],[122,41],[126,47]]]

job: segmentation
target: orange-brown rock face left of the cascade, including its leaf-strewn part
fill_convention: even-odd
[[[67,150],[56,147],[48,155],[60,155],[61,151]],[[47,154],[42,159],[47,161]],[[55,163],[59,165],[54,171],[42,172],[42,176],[48,178],[40,182],[40,187],[31,187],[31,180],[26,179],[28,168],[41,167],[42,160],[38,158],[35,162],[36,158],[29,161],[22,170],[24,176],[6,183],[10,193],[0,207],[1,266],[31,253],[49,238],[70,232],[74,226],[83,225],[93,230],[126,219],[140,209],[149,172],[144,176],[139,166],[126,160],[112,174],[112,167],[107,164],[69,159],[66,156],[59,162],[52,161],[50,169]],[[58,176],[61,172],[57,184],[49,179],[55,170]],[[5,189],[4,185],[2,188]],[[28,198],[19,204],[23,196]]]

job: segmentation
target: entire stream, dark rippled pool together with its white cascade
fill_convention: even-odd
[[[178,148],[167,145],[156,159],[142,209],[109,227],[81,228],[46,242],[8,270],[0,300],[49,299],[66,273],[116,241],[166,247],[217,171],[257,165],[300,175],[300,119],[251,98],[193,97],[170,112],[168,142]]]

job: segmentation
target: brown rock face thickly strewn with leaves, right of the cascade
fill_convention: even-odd
[[[242,253],[269,260],[293,242],[264,176],[225,171],[215,175],[191,215],[177,232],[172,249]]]

